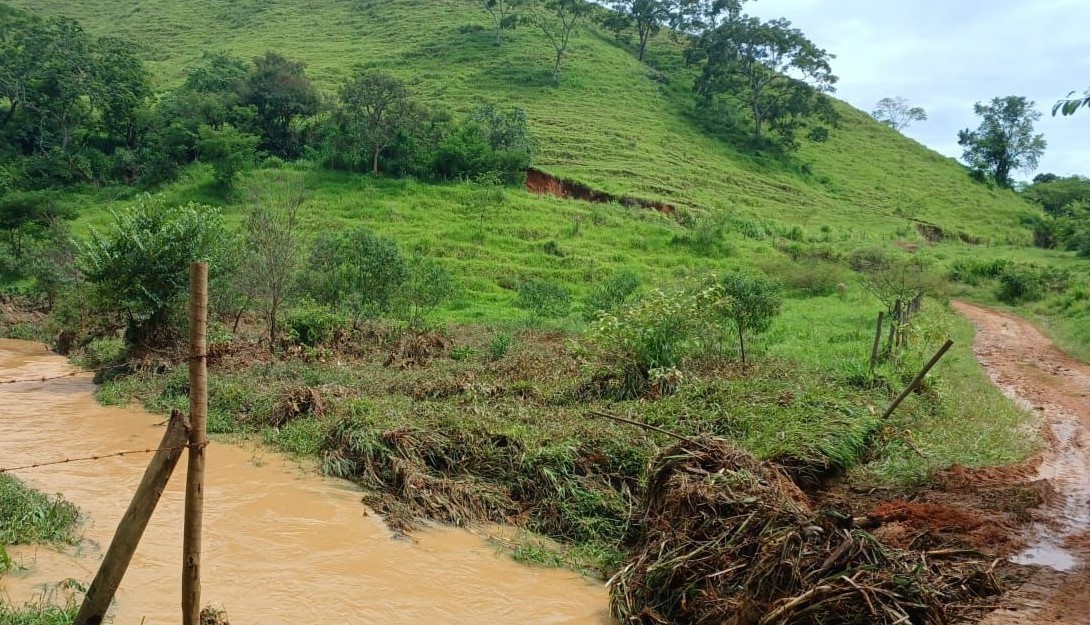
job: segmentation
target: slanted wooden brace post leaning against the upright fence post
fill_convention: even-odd
[[[170,414],[170,423],[167,432],[162,435],[159,448],[152,457],[147,470],[144,471],[144,479],[136,488],[136,493],[129,503],[129,509],[121,517],[117,531],[113,532],[113,540],[106,551],[106,557],[98,567],[95,580],[90,582],[87,594],[83,598],[83,604],[75,616],[76,625],[99,625],[106,617],[106,611],[110,609],[110,602],[118,592],[121,578],[124,577],[129,563],[132,562],[133,552],[140,544],[140,539],[147,529],[147,522],[152,519],[159,497],[162,496],[170,476],[178,466],[178,460],[182,457],[182,452],[190,442],[190,424],[179,410]]]

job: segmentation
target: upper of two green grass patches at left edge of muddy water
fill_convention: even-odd
[[[80,510],[71,503],[0,473],[0,545],[70,543],[77,538],[78,524]]]

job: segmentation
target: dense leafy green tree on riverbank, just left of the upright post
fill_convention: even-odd
[[[108,230],[92,229],[78,244],[77,266],[99,305],[123,317],[130,345],[161,344],[172,307],[189,290],[190,264],[205,261],[214,271],[221,256],[219,214],[145,197],[112,216]]]

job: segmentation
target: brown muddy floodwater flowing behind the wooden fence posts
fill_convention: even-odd
[[[64,374],[37,344],[0,340],[0,378]],[[161,419],[98,406],[86,376],[0,386],[0,466],[155,446]],[[86,516],[62,552],[19,548],[25,572],[0,578],[22,603],[44,586],[89,582],[147,455],[22,471]],[[214,443],[205,495],[204,602],[238,624],[608,623],[601,582],[522,566],[482,539],[437,529],[391,539],[347,482],[325,480],[256,448]],[[116,623],[177,623],[182,482],[179,465],[118,594]]]

